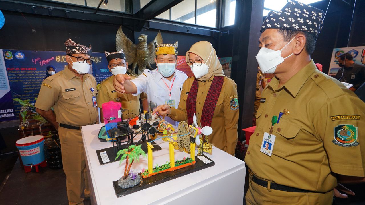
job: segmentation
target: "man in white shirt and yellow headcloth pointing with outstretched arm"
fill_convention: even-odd
[[[128,75],[117,75],[114,78],[114,88],[120,93],[132,93],[138,95],[141,92],[147,94],[147,99],[157,105],[168,104],[176,107],[180,102],[180,93],[183,83],[188,76],[176,70],[177,66],[177,42],[174,44],[156,44],[156,70],[145,69],[138,78],[130,80]],[[166,121],[172,125],[178,125],[169,117]]]

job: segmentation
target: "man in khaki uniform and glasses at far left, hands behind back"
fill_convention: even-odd
[[[90,192],[80,129],[97,121],[96,80],[87,74],[92,64],[91,46],[71,39],[65,45],[68,67],[43,80],[35,107],[58,130],[69,205],[81,205],[82,192],[85,197],[90,197]]]

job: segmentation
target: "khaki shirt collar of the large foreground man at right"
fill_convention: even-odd
[[[290,94],[295,98],[301,87],[303,87],[304,83],[307,81],[307,79],[311,76],[311,74],[315,70],[316,66],[313,60],[311,60],[311,62],[309,62],[291,79],[289,79],[288,82],[286,82],[283,87],[285,87],[290,92]],[[278,85],[279,85],[279,80],[276,77],[274,77],[269,83],[269,86],[274,91],[278,89]]]

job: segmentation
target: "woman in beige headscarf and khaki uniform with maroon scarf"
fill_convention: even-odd
[[[186,53],[186,60],[195,77],[184,82],[178,109],[161,105],[153,114],[158,112],[175,121],[188,121],[189,125],[196,114],[198,125],[213,129],[209,143],[234,155],[238,139],[237,85],[224,76],[216,52],[207,41],[195,43]]]

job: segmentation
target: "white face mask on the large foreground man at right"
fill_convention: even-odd
[[[295,37],[293,39],[295,39]],[[288,44],[290,42],[292,42],[292,40],[290,40],[283,48],[281,48],[281,50],[278,50],[278,51],[274,51],[274,50],[271,50],[269,48],[264,48],[264,47],[262,47],[260,49],[260,51],[258,51],[256,60],[263,73],[270,73],[270,74],[274,73],[278,64],[283,63],[284,59],[289,58],[291,55],[294,54],[294,53],[292,53],[289,56],[287,56],[286,58],[281,57],[281,51],[286,46],[288,46]]]

